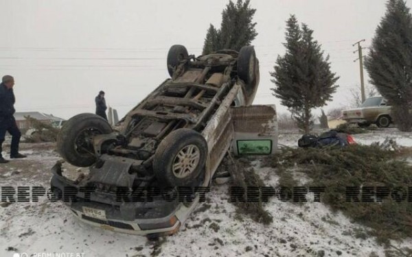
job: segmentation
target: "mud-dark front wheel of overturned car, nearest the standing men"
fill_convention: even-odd
[[[62,126],[57,137],[57,149],[70,164],[88,167],[95,162],[93,136],[112,131],[102,117],[91,113],[78,114]]]

